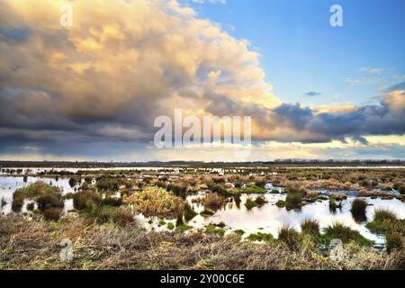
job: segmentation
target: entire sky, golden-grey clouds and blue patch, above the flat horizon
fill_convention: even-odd
[[[67,5],[72,25],[61,25]],[[3,0],[0,160],[405,159],[404,8]],[[236,144],[158,149],[154,122],[175,109],[250,116],[248,155]]]

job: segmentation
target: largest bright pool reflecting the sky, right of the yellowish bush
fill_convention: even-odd
[[[204,209],[201,204],[195,203],[195,199],[202,196],[203,194],[200,194],[187,198],[187,201],[190,202],[193,209],[197,212],[201,212]],[[247,210],[244,205],[247,198],[256,198],[256,196],[258,195],[241,195],[241,204],[239,206],[235,201],[229,202],[210,218],[198,215],[192,220],[193,226],[203,227],[212,222],[220,223],[220,221],[223,221],[230,229],[243,229],[247,233],[255,233],[261,230],[262,232],[272,233],[277,237],[278,229],[283,225],[290,225],[294,229],[301,230],[302,220],[305,219],[319,220],[321,229],[339,221],[352,229],[358,230],[365,238],[374,240],[377,245],[382,245],[384,243],[383,236],[374,235],[365,228],[365,221],[373,219],[374,210],[381,208],[390,209],[401,219],[405,218],[405,204],[397,199],[366,199],[369,206],[367,206],[365,215],[354,218],[350,212],[351,202],[355,199],[353,196],[349,196],[347,200],[342,201],[341,208],[337,208],[334,211],[330,211],[329,201],[313,202],[304,205],[301,210],[287,211],[285,208],[278,208],[275,205],[279,200],[285,200],[285,194],[266,194],[264,195],[268,201],[266,205],[261,208],[253,208],[250,211]]]

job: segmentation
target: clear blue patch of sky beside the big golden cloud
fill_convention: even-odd
[[[227,0],[189,3],[260,51],[266,79],[284,102],[369,102],[404,80],[405,2],[401,0]],[[344,27],[329,8],[343,7]],[[373,68],[382,69],[371,70]],[[369,70],[367,72],[367,70]],[[374,71],[371,73],[370,71]],[[318,96],[304,96],[310,91]]]

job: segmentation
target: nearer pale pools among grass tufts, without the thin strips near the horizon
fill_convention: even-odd
[[[26,186],[28,184],[43,181],[47,184],[57,185],[61,188],[62,194],[74,193],[75,187],[71,187],[68,183],[68,178],[59,177],[58,180],[55,177],[27,177],[24,182],[23,176],[0,176],[0,201],[4,199],[6,204],[0,206],[0,214],[8,214],[11,212],[11,203],[13,201],[13,193],[16,189]],[[84,181],[84,180],[83,180]],[[270,189],[271,188],[271,189]],[[278,230],[284,226],[289,225],[294,229],[300,230],[300,225],[302,220],[311,219],[320,221],[320,229],[325,228],[334,222],[342,222],[345,225],[351,227],[352,229],[358,230],[365,238],[369,238],[375,241],[376,246],[381,246],[384,244],[384,237],[381,235],[375,235],[365,228],[365,221],[356,221],[351,212],[351,202],[356,199],[355,192],[336,192],[336,191],[320,191],[321,194],[328,193],[346,193],[347,200],[342,202],[342,208],[336,211],[329,210],[329,201],[313,202],[308,203],[302,207],[300,210],[287,211],[285,208],[278,208],[275,203],[279,200],[285,200],[285,193],[283,193],[283,188],[269,187],[269,190],[277,189],[282,193],[279,194],[250,194],[241,195],[240,204],[236,202],[228,202],[220,210],[216,211],[215,215],[211,217],[202,217],[197,215],[188,224],[193,226],[195,229],[204,228],[208,224],[219,224],[224,222],[227,231],[233,229],[243,229],[246,234],[250,233],[271,233],[275,238],[278,236]],[[196,195],[188,196],[187,202],[193,207],[193,210],[200,213],[204,210],[202,204],[196,202],[199,198],[202,198],[204,193],[198,193]],[[247,210],[245,207],[245,202],[247,198],[256,199],[257,196],[266,198],[266,203],[260,208],[253,208],[252,210]],[[374,210],[376,209],[389,209],[396,213],[397,217],[400,219],[405,218],[405,203],[397,199],[383,200],[383,199],[371,199],[365,198],[369,206],[366,209],[367,220],[373,220]],[[73,201],[65,201],[65,211],[73,209]],[[23,212],[26,211],[25,203],[23,205]],[[149,223],[149,220],[137,216],[137,220],[146,229],[155,230],[165,230],[166,226],[158,227],[157,220]]]

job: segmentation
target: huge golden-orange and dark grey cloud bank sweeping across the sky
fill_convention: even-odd
[[[72,27],[59,25],[62,4],[73,7]],[[283,103],[247,40],[175,0],[4,0],[0,40],[2,158],[26,147],[66,157],[132,151],[153,139],[157,116],[175,109],[252,116],[258,141],[405,132],[403,91],[344,109]]]

